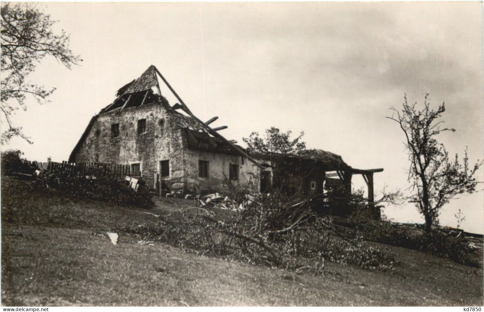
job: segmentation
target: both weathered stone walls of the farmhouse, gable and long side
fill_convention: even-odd
[[[146,119],[146,131],[138,134],[138,120]],[[111,125],[119,124],[119,136],[113,137]],[[169,161],[169,176],[162,177],[168,190],[227,192],[229,165],[239,166],[239,179],[234,187],[259,190],[259,171],[247,158],[189,149],[186,133],[159,104],[114,109],[98,116],[82,146],[76,162],[140,164],[141,175],[149,187],[157,188],[160,162]],[[208,177],[200,177],[198,161],[209,162]]]

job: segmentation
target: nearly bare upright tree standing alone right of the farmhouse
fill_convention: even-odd
[[[445,103],[434,110],[430,108],[428,94],[423,108],[417,103],[408,104],[407,95],[402,110],[390,108],[392,116],[386,117],[396,122],[405,134],[405,147],[410,162],[408,182],[412,194],[409,202],[415,203],[425,219],[425,231],[430,232],[432,224],[438,224],[441,208],[460,194],[476,191],[475,175],[482,165],[479,160],[469,164],[467,148],[462,160],[456,154],[449,157],[445,146],[437,140],[442,132],[454,132],[454,128],[443,127],[440,118],[445,112]]]

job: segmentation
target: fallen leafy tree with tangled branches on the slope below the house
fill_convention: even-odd
[[[388,250],[338,232],[330,217],[312,211],[308,200],[294,203],[277,193],[264,194],[244,207],[241,212],[193,207],[172,213],[158,224],[122,230],[204,255],[316,274],[322,272],[325,260],[370,270],[395,264]]]

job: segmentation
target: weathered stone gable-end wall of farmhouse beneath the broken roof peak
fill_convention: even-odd
[[[146,131],[138,134],[138,120],[146,119]],[[111,125],[119,124],[114,138]],[[76,162],[140,164],[143,180],[155,186],[154,174],[160,161],[169,160],[169,177],[163,178],[171,189],[184,187],[185,137],[159,104],[114,109],[101,114],[76,154]]]

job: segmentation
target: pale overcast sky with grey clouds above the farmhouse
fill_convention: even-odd
[[[445,101],[443,119],[457,131],[441,141],[451,154],[468,145],[471,160],[484,158],[481,2],[42,6],[84,61],[68,70],[44,59],[30,76],[57,91],[51,103],[30,99],[15,116],[34,144],[15,139],[7,148],[29,159],[67,160],[90,118],[151,64],[199,118],[219,116],[214,125],[228,125],[228,139],[270,126],[304,131],[310,148],[354,168],[384,168],[377,192],[408,187],[403,134],[385,119],[405,93],[411,102],[426,93],[435,105]],[[353,182],[364,185],[361,176]],[[454,201],[441,224],[455,226],[461,208],[464,229],[483,233],[483,199]],[[384,213],[422,222],[411,204]]]

